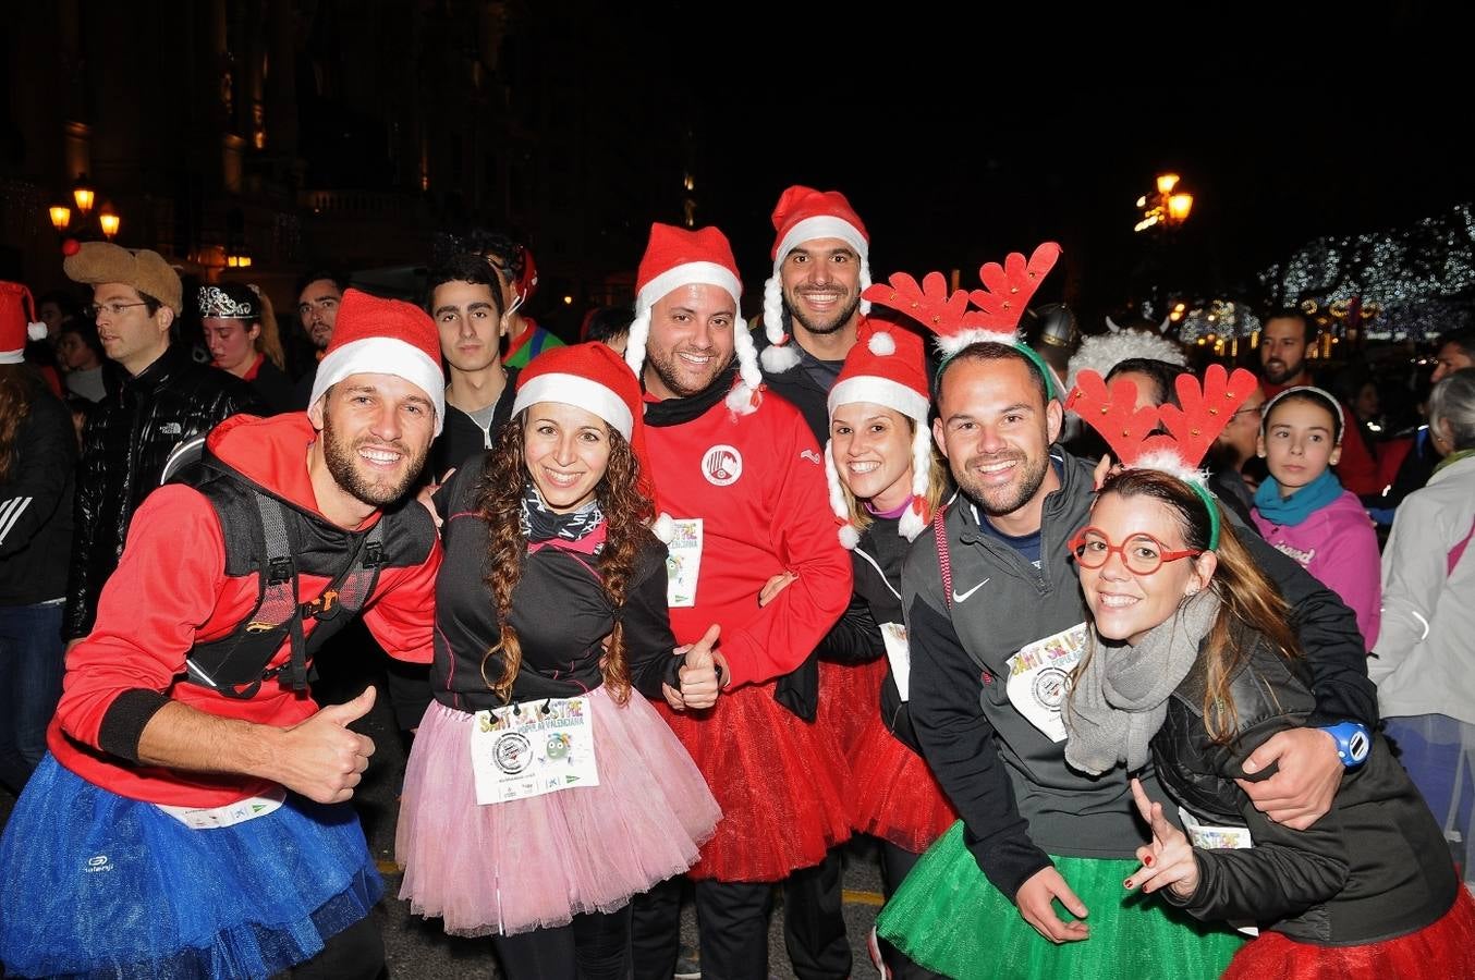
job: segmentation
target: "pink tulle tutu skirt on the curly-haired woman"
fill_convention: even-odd
[[[454,936],[512,934],[611,912],[690,868],[721,812],[692,757],[639,693],[589,694],[599,785],[479,806],[475,715],[432,703],[404,774],[400,897]]]

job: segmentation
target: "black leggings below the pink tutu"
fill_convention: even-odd
[[[491,942],[507,980],[621,980],[630,973],[630,906]]]

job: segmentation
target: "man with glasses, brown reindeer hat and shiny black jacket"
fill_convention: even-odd
[[[170,452],[227,416],[261,407],[245,382],[170,345],[183,290],[158,252],[87,242],[63,268],[72,281],[93,287],[87,315],[108,358],[127,373],[83,429],[62,623],[63,638],[75,641],[91,631],[97,594],[118,564],[133,511],[159,485]]]

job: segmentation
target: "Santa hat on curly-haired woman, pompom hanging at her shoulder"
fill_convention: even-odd
[[[640,489],[655,500],[655,469],[646,452],[640,379],[614,348],[593,340],[549,348],[532,358],[518,374],[512,416],[544,401],[583,408],[624,436],[640,461]],[[671,517],[667,514],[661,514],[652,528],[662,541],[671,539]]]

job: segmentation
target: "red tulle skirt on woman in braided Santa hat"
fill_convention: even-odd
[[[903,850],[922,853],[957,821],[926,760],[872,713],[850,753],[851,827]]]

